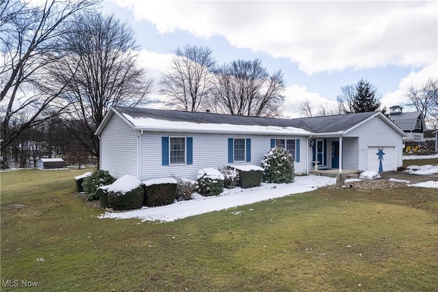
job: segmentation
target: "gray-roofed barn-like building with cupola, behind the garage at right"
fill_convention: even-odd
[[[421,112],[403,112],[401,106],[389,108],[389,119],[407,134],[404,142],[424,142],[426,123]]]

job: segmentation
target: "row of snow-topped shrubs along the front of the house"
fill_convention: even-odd
[[[99,199],[102,208],[131,210],[142,206],[164,206],[175,200],[190,199],[197,191],[201,195],[219,195],[223,188],[253,188],[261,182],[289,183],[294,181],[294,160],[280,147],[270,149],[261,161],[262,167],[236,165],[221,169],[201,169],[198,180],[184,178],[156,179],[140,182],[131,175],[115,180],[107,171],[94,171],[76,177],[77,191],[83,186],[89,201]],[[81,180],[83,183],[81,184]]]

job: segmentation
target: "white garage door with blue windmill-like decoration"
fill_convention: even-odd
[[[368,147],[369,171],[396,170],[394,163],[394,147]]]

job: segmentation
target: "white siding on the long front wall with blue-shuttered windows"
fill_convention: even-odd
[[[163,136],[186,136],[193,138],[193,164],[192,165],[162,165],[162,137]],[[251,139],[251,161],[239,162],[234,165],[261,165],[263,156],[270,149],[270,136],[237,136],[237,135],[214,135],[214,134],[142,134],[142,175],[141,180],[163,178],[172,175],[196,179],[200,169],[206,167],[220,168],[233,165],[228,162],[228,138]],[[287,137],[297,138],[297,137]],[[300,141],[300,163],[296,163],[296,173],[305,173],[305,138]]]

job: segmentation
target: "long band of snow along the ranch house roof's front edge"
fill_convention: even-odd
[[[234,125],[229,123],[192,123],[187,121],[169,121],[166,119],[153,119],[146,117],[131,117],[123,113],[123,117],[130,121],[134,127],[147,130],[170,130],[190,132],[215,132],[215,133],[257,133],[257,134],[297,134],[308,135],[306,130],[298,127],[279,127],[273,125]]]

